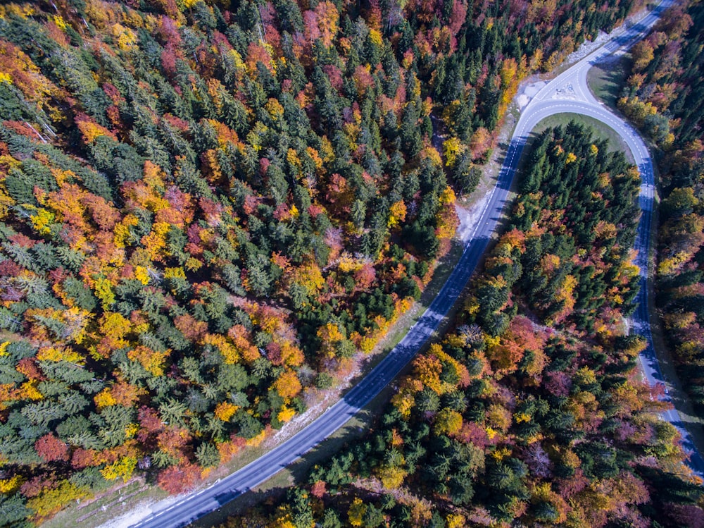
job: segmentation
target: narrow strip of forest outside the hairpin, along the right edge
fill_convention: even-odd
[[[679,375],[704,416],[704,5],[674,7],[633,49],[619,106],[658,152],[658,309]]]

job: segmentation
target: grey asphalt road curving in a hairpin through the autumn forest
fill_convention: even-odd
[[[633,317],[636,332],[648,340],[648,348],[641,354],[643,372],[651,384],[664,381],[658,360],[655,357],[653,339],[650,335],[648,315],[648,248],[650,245],[650,221],[653,214],[654,182],[653,164],[646,145],[634,128],[608,111],[593,97],[586,85],[586,71],[597,61],[612,54],[621,47],[628,47],[652,27],[663,9],[672,4],[672,0],[662,1],[639,23],[624,30],[603,47],[575,63],[543,87],[522,111],[513,137],[510,140],[503,167],[498,175],[496,186],[486,200],[482,215],[474,228],[474,233],[465,246],[460,261],[446,281],[435,300],[408,331],[398,345],[389,352],[382,362],[365,378],[349,391],[343,399],[329,407],[315,422],[308,425],[289,440],[270,450],[266,455],[251,464],[220,479],[206,489],[184,496],[180,501],[161,510],[153,512],[134,528],[183,527],[220,508],[233,498],[273,477],[284,467],[301,458],[309,450],[337,431],[345,422],[401,372],[426,341],[432,336],[437,326],[454,305],[467,281],[477,267],[479,260],[489,244],[492,233],[508,199],[508,192],[513,181],[523,147],[530,131],[547,116],[555,113],[581,113],[603,121],[619,133],[627,143],[641,171],[640,205],[643,214],[639,223],[636,249],[638,264],[641,268],[641,290],[637,302],[639,307]],[[666,400],[670,396],[665,395]],[[677,411],[670,410],[662,415],[681,432],[684,446],[691,453],[690,465],[695,472],[704,475],[704,460],[693,446],[691,438],[681,422]],[[158,506],[158,505],[157,505]]]

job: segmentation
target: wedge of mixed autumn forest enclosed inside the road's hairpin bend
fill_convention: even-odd
[[[513,226],[382,417],[223,528],[703,526],[679,434],[639,376],[646,343],[618,323],[638,287],[640,178],[606,147],[575,123],[546,130]]]

